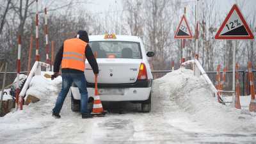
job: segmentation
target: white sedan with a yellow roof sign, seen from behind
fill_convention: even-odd
[[[99,65],[98,92],[102,101],[130,101],[141,103],[141,111],[151,109],[152,74],[147,52],[138,36],[91,35],[90,47],[97,51]],[[94,74],[88,61],[84,70],[88,90],[88,102],[93,101]],[[72,111],[79,111],[81,95],[72,84]]]

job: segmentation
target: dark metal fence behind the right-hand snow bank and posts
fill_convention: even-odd
[[[172,72],[172,70],[152,70],[152,74],[154,79],[159,77],[163,77],[168,72]],[[241,95],[250,95],[250,83],[248,81],[248,71],[247,70],[238,70],[239,72],[239,83],[240,83],[240,92]],[[256,84],[256,70],[252,70],[253,72],[253,80],[254,84]],[[216,84],[216,74],[217,72],[206,72],[212,83]],[[222,72],[221,72],[222,74]],[[256,86],[255,86],[256,89]],[[231,91],[232,90],[232,71],[226,72],[226,81],[223,84],[223,90]],[[231,93],[230,93],[231,95]]]

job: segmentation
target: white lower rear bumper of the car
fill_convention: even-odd
[[[100,90],[106,90],[108,88],[99,88]],[[113,88],[112,88],[113,89]],[[116,88],[117,89],[117,88]],[[119,88],[120,89],[120,88]],[[100,94],[100,100],[102,101],[140,101],[140,100],[147,100],[151,87],[148,88],[122,88],[124,90],[123,94]],[[88,98],[93,97],[94,95],[94,88],[87,88],[88,91]],[[81,99],[81,95],[77,87],[71,87],[71,92],[76,100]]]

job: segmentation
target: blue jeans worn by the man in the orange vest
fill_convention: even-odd
[[[81,100],[80,100],[81,113],[88,113],[88,109],[87,109],[88,92],[86,89],[86,79],[84,77],[84,74],[77,74],[77,73],[62,73],[61,92],[58,95],[55,107],[52,109],[53,113],[57,113],[57,114],[60,113],[61,108],[63,106],[63,102],[67,97],[67,93],[72,83],[76,84],[81,94]]]

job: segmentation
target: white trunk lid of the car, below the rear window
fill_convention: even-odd
[[[135,83],[138,77],[141,59],[99,58],[98,83]],[[88,61],[84,71],[88,83],[94,83],[94,74]]]

